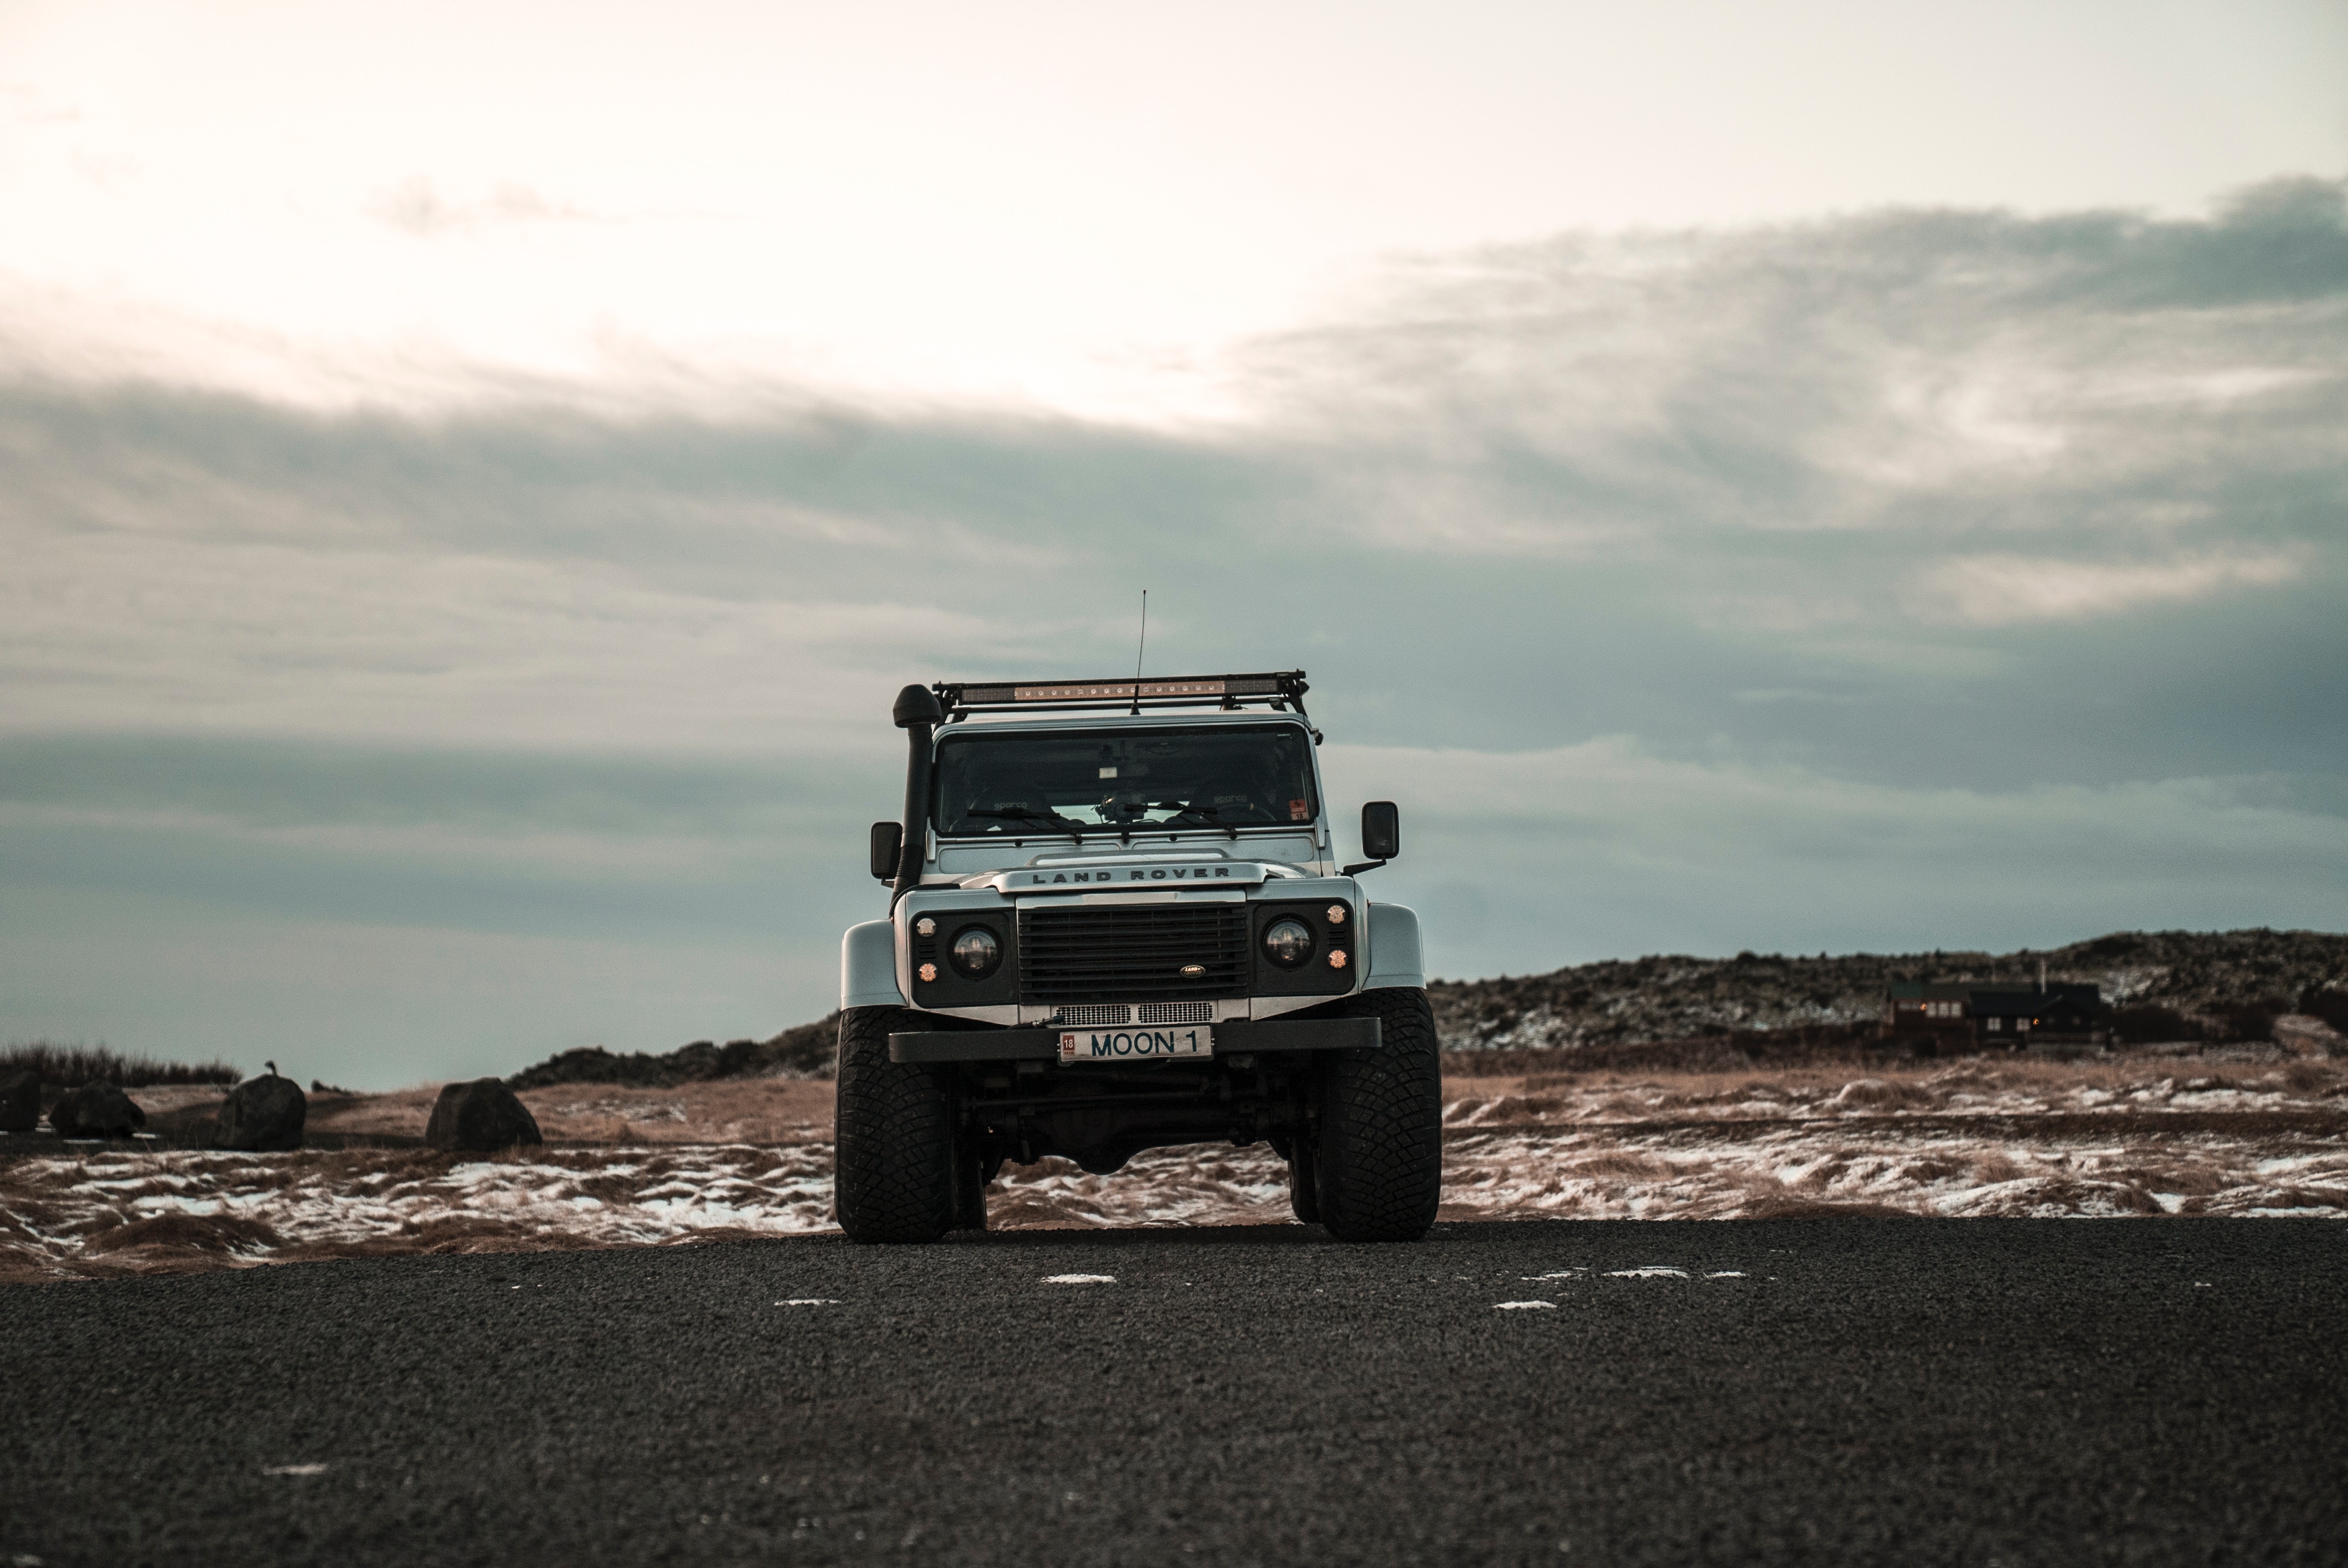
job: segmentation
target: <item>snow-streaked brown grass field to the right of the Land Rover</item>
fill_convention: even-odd
[[[1451,1080],[1442,1216],[2348,1218],[2348,1066],[2155,1073]]]

